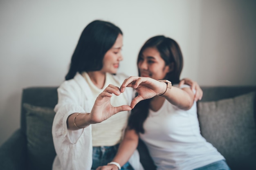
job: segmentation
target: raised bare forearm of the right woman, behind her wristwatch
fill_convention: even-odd
[[[193,92],[182,90],[177,87],[167,88],[166,92],[161,95],[168,102],[183,110],[189,110],[193,106]]]

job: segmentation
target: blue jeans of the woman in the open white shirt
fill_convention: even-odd
[[[96,146],[92,147],[92,170],[99,166],[107,165],[115,157],[119,144],[115,146]],[[121,170],[134,170],[130,163],[124,164]]]

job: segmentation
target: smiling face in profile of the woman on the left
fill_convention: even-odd
[[[107,51],[103,58],[101,71],[111,74],[117,73],[119,62],[123,60],[121,49],[123,46],[123,35],[119,34],[115,44]]]

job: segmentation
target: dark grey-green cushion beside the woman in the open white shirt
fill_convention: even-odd
[[[52,139],[53,108],[23,104],[27,121],[29,170],[50,170],[56,155]]]

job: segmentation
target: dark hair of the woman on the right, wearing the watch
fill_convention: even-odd
[[[160,56],[165,62],[165,65],[171,65],[173,63],[173,71],[166,74],[165,79],[170,80],[173,84],[180,82],[180,74],[183,67],[183,57],[180,50],[179,44],[164,35],[158,35],[148,39],[145,44],[141,47],[139,51],[137,65],[140,61],[140,56],[145,49],[154,47],[159,51]],[[140,73],[139,73],[140,76]],[[128,121],[128,127],[130,129],[135,129],[137,133],[144,133],[143,128],[144,121],[148,117],[148,109],[150,107],[150,99],[140,101],[135,108],[132,109]]]

